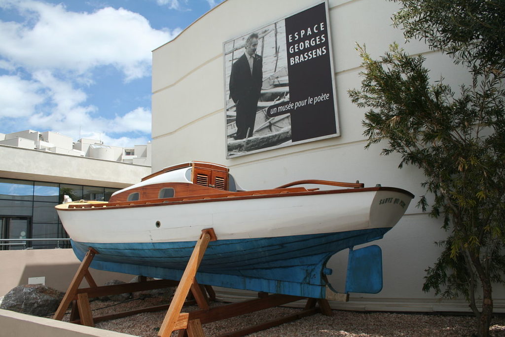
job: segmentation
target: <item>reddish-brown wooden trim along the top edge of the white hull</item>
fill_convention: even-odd
[[[315,196],[340,193],[355,193],[355,192],[371,192],[379,190],[388,190],[400,192],[414,198],[414,195],[401,188],[396,187],[364,187],[364,188],[346,188],[346,189],[328,189],[328,190],[307,190],[304,187],[286,188],[288,191],[283,192],[282,189],[266,189],[247,192],[229,192],[227,194],[217,194],[209,196],[194,196],[194,197],[179,197],[154,200],[141,200],[131,202],[118,203],[95,203],[95,204],[74,204],[68,208],[59,208],[60,211],[85,211],[85,210],[106,210],[106,209],[123,209],[133,207],[151,207],[151,206],[166,206],[166,205],[182,205],[182,204],[197,204],[209,202],[223,202],[232,200],[251,200],[264,198],[281,198],[281,197],[299,197],[299,196]],[[297,190],[295,190],[297,189]]]

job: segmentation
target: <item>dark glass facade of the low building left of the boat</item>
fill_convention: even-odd
[[[0,249],[70,248],[68,241],[22,239],[67,238],[55,206],[72,200],[108,201],[119,188],[0,178]],[[2,239],[14,238],[17,241]]]

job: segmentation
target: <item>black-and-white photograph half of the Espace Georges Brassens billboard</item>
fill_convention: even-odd
[[[284,21],[224,43],[227,157],[290,142],[290,116],[267,116],[289,101]]]

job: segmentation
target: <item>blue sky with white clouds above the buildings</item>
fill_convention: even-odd
[[[222,0],[0,0],[0,133],[151,138],[151,51]]]

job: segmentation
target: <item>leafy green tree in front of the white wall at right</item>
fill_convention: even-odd
[[[489,334],[492,284],[505,273],[505,89],[503,1],[397,0],[394,17],[407,39],[424,40],[466,66],[471,81],[452,88],[429,77],[423,56],[409,56],[393,43],[374,60],[358,45],[364,70],[361,89],[349,96],[368,108],[363,125],[367,148],[399,153],[399,166],[425,176],[427,194],[418,206],[443,218],[446,239],[429,267],[423,290],[463,295]]]

